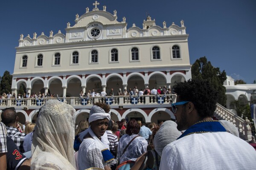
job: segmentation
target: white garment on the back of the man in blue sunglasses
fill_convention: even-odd
[[[251,170],[256,151],[228,132],[194,133],[163,149],[160,170]]]

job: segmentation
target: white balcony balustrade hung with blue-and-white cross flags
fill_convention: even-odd
[[[96,96],[96,97],[59,97],[59,98],[24,98],[24,99],[0,99],[0,109],[6,107],[15,107],[15,108],[39,108],[47,100],[58,99],[69,105],[76,106],[92,106],[96,102],[103,102],[110,104],[112,106],[119,105],[169,105],[176,99],[175,94],[168,95],[143,95],[143,96]],[[167,106],[167,107],[169,107]]]

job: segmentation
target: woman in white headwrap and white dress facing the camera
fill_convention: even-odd
[[[102,136],[108,128],[110,113],[110,107],[105,103],[95,103],[91,108],[88,120],[90,126],[79,134],[82,141],[78,150],[79,170],[90,167],[111,170],[110,165],[116,164],[108,149],[109,146],[102,142]]]

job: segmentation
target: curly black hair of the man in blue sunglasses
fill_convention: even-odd
[[[218,92],[207,80],[189,79],[173,87],[180,101],[190,101],[201,118],[212,117],[216,109]]]

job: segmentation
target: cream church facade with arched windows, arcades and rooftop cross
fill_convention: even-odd
[[[127,28],[125,17],[117,20],[117,11],[109,13],[93,3],[85,14],[76,14],[75,24],[67,23],[66,33],[49,36],[20,35],[16,48],[12,93],[24,85],[26,92],[55,94],[76,109],[76,123],[89,117],[94,102],[111,105],[111,119],[140,119],[160,122],[175,119],[171,102],[175,96],[143,95],[117,96],[119,89],[140,91],[166,86],[172,89],[177,82],[191,78],[188,37],[183,20],[180,26],[172,23],[157,26],[150,16],[143,28],[135,24]],[[110,91],[113,89],[113,95]],[[80,97],[80,93],[105,91],[107,95]],[[24,121],[32,122],[48,99],[12,99],[4,105],[15,106]],[[84,100],[86,99],[86,100]],[[110,102],[111,99],[111,102]],[[17,105],[20,102],[20,105]]]

